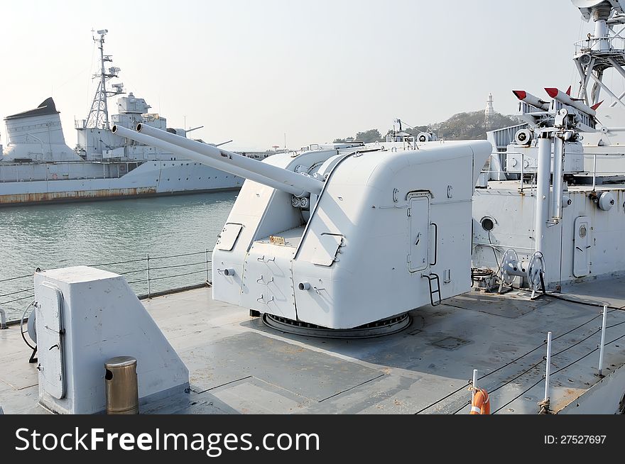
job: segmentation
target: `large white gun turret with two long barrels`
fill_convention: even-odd
[[[247,179],[212,254],[214,299],[354,328],[470,288],[487,141],[325,145],[261,162],[142,124],[113,131]]]

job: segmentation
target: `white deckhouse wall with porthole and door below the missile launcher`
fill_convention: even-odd
[[[609,189],[604,191],[614,195],[612,209],[602,211],[598,203],[589,199],[592,186],[569,186],[566,197],[570,204],[562,209],[562,220],[545,228],[545,285],[561,285],[578,280],[580,276],[594,278],[625,272],[625,249],[621,247],[622,231],[625,228],[625,185],[597,188],[599,198],[602,189]],[[536,200],[529,194],[530,191],[531,186],[528,186],[521,194],[518,182],[513,181],[490,182],[489,189],[476,190],[473,201],[473,267],[498,270],[501,255],[509,248],[517,251],[519,260],[531,259]],[[589,241],[580,245],[585,253],[575,248],[574,244],[577,241],[579,245],[580,239],[576,236],[580,226],[576,221],[580,215],[588,218],[589,222],[585,228]],[[485,216],[494,220],[494,228],[490,233],[484,231],[480,224]],[[495,262],[494,253],[498,263]]]

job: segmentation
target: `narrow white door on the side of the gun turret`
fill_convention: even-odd
[[[410,217],[410,253],[408,253],[408,270],[410,272],[417,272],[424,270],[429,265],[429,197],[411,197],[408,204],[408,216]]]

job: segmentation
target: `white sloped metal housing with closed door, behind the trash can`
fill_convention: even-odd
[[[142,402],[188,387],[187,368],[124,277],[86,266],[36,272],[35,299],[41,369],[39,401],[51,411],[104,411],[104,362],[119,355],[138,360]],[[63,329],[62,353],[55,348],[57,327]],[[60,394],[58,381],[50,385],[48,379],[49,372],[59,370],[60,362],[66,379],[65,394]]]

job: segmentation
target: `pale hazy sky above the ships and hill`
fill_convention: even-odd
[[[95,90],[92,28],[168,126],[186,116],[205,126],[194,137],[243,150],[435,123],[489,92],[514,114],[512,89],[575,80],[572,43],[590,30],[570,0],[29,0],[1,17],[0,117],[51,95],[70,147]]]

